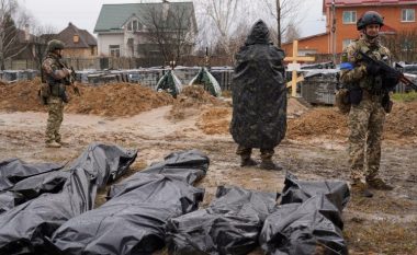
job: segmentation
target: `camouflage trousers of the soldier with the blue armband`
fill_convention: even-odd
[[[353,182],[377,176],[381,140],[385,121],[382,96],[363,93],[359,105],[349,113],[349,163]]]

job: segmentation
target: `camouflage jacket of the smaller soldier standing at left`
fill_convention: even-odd
[[[64,78],[69,73],[55,54],[48,54],[42,62],[43,81],[49,85],[64,83]]]

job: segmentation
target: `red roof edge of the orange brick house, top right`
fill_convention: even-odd
[[[335,1],[336,7],[372,7],[417,4],[417,0],[323,0],[323,12]]]

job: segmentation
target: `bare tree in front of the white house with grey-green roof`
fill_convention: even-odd
[[[194,12],[187,3],[164,2],[162,9],[159,7],[149,4],[144,13],[149,40],[158,45],[166,62],[178,62],[195,43]]]

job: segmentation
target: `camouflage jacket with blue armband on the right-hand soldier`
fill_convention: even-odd
[[[361,61],[359,51],[368,56],[391,63],[390,50],[382,46],[380,42],[369,43],[364,38],[352,42],[341,55],[340,80],[343,84],[359,85],[364,90],[372,90],[381,83],[381,76],[369,76],[367,66]],[[349,68],[346,68],[348,65]]]

